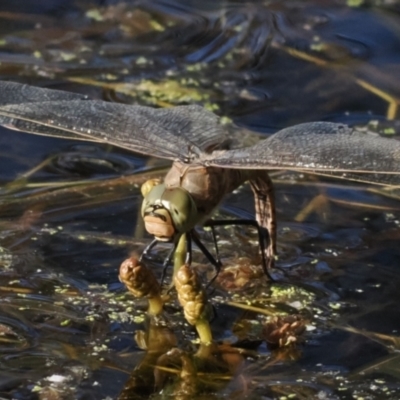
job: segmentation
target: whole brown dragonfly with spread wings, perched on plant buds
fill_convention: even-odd
[[[230,149],[220,118],[199,105],[166,109],[111,103],[66,91],[0,82],[0,125],[27,133],[107,143],[172,161],[163,182],[144,190],[142,217],[158,243],[191,240],[217,268],[195,226],[210,221],[224,196],[248,181],[255,199],[255,225],[262,265],[269,275],[277,254],[273,170],[330,175],[378,185],[400,184],[400,141],[365,128],[309,122],[282,129],[249,147]],[[171,251],[170,254],[172,254]]]

